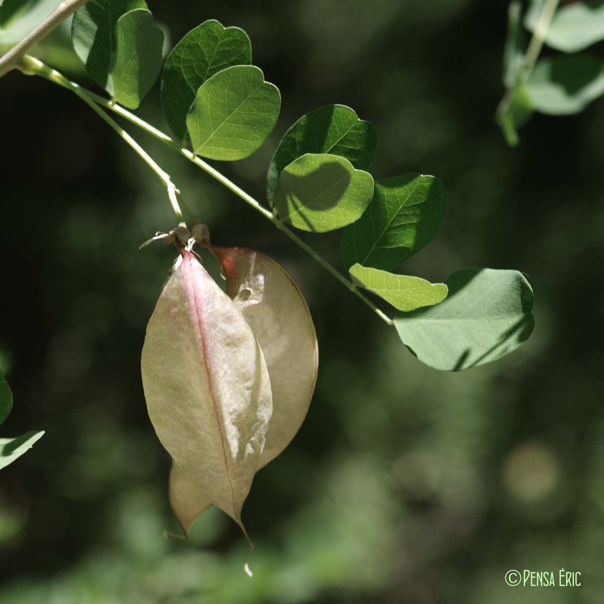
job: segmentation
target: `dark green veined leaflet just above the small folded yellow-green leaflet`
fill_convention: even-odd
[[[446,191],[434,176],[403,174],[377,181],[373,199],[344,229],[344,264],[389,270],[428,245],[445,220]]]

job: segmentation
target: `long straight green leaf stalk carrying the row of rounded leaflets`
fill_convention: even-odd
[[[94,92],[90,92],[90,91],[82,88],[82,86],[77,85],[74,82],[70,82],[68,79],[66,79],[64,76],[62,76],[59,72],[55,71],[54,69],[48,68],[46,65],[44,65],[42,62],[40,62],[37,59],[33,59],[32,57],[25,57],[24,66],[21,69],[22,69],[22,71],[24,71],[27,74],[41,76],[47,80],[50,80],[51,82],[54,82],[56,84],[59,84],[60,86],[63,86],[64,88],[71,90],[72,92],[75,92],[86,103],[95,105],[96,106],[95,111],[97,111],[97,112],[100,111],[100,109],[98,108],[98,105],[100,105],[106,109],[109,109],[109,111],[115,112],[116,114],[120,115],[124,119],[130,121],[130,123],[135,124],[135,126],[140,127],[145,132],[147,132],[150,135],[152,135],[153,137],[157,138],[159,141],[162,141],[162,143],[167,144],[168,146],[172,147],[172,149],[174,149],[175,151],[177,151],[178,153],[183,155],[185,158],[187,158],[189,161],[193,162],[199,168],[204,170],[204,172],[206,172],[207,174],[212,176],[212,178],[216,179],[218,182],[220,182],[222,185],[224,185],[226,188],[228,188],[228,190],[230,190],[234,194],[236,194],[240,199],[243,199],[243,201],[245,201],[246,204],[251,205],[251,207],[254,208],[254,210],[256,210],[257,212],[262,214],[262,216],[264,216],[267,220],[270,220],[280,231],[282,231],[284,234],[286,234],[289,237],[289,239],[291,239],[294,243],[296,243],[298,246],[300,246],[300,248],[302,248],[313,259],[315,259],[316,262],[318,262],[321,266],[323,266],[323,268],[326,269],[326,271],[330,272],[330,274],[332,274],[333,277],[335,277],[338,281],[340,281],[340,283],[342,283],[346,288],[348,288],[351,292],[353,292],[353,294],[355,294],[358,298],[361,298],[361,300],[364,301],[364,303],[367,304],[367,306],[370,307],[371,310],[373,310],[373,312],[376,313],[376,315],[379,316],[379,318],[381,318],[385,323],[387,323],[388,325],[394,324],[393,320],[388,315],[386,315],[384,312],[382,312],[382,310],[377,308],[377,306],[375,304],[373,304],[373,302],[371,302],[371,300],[369,300],[364,294],[362,294],[362,292],[360,292],[358,290],[358,288],[356,287],[356,285],[354,283],[352,283],[352,281],[345,278],[344,275],[342,275],[339,271],[337,271],[335,268],[333,268],[333,266],[330,265],[330,263],[327,262],[327,260],[325,260],[321,255],[317,254],[314,249],[312,249],[309,245],[307,245],[307,243],[305,243],[303,240],[301,240],[300,237],[298,237],[292,230],[290,230],[288,228],[288,226],[284,225],[283,222],[281,222],[281,220],[278,219],[277,216],[274,216],[274,214],[272,214],[271,211],[262,207],[262,205],[260,205],[259,202],[256,201],[251,195],[246,193],[242,188],[238,187],[233,181],[226,178],[226,176],[224,176],[218,170],[213,168],[210,164],[208,164],[207,162],[205,162],[203,159],[199,158],[198,156],[194,155],[194,153],[191,152],[186,147],[183,147],[181,143],[174,140],[172,137],[169,137],[164,132],[161,132],[161,130],[158,130],[157,128],[151,126],[151,124],[148,124],[146,121],[141,120],[140,117],[137,117],[137,115],[130,113],[129,111],[127,111],[127,109],[124,109],[123,107],[121,107],[118,104],[112,103],[111,100],[101,97],[98,94],[94,94]],[[100,113],[104,116],[103,119],[108,118],[108,116],[103,111],[100,111]],[[109,118],[109,120],[111,120],[111,118]],[[111,121],[113,121],[113,120],[111,120]],[[117,126],[117,124],[115,124],[115,125]],[[117,126],[117,127],[119,128],[119,126]],[[123,130],[122,130],[122,132],[123,132]],[[132,140],[131,137],[130,137],[130,140]],[[129,140],[127,140],[127,142],[129,144],[131,144]],[[134,142],[134,141],[132,140],[132,142]],[[140,149],[138,144],[136,144],[136,145]],[[136,150],[136,147],[135,147],[135,150]],[[146,158],[149,158],[149,156],[142,149],[141,149],[141,151],[144,153],[144,156],[141,155],[141,157],[143,157],[143,159],[145,159],[145,161],[147,161]],[[153,161],[153,160],[151,160],[151,161]],[[147,163],[149,163],[149,162],[147,161]],[[155,164],[155,162],[153,162],[153,163]],[[149,164],[149,165],[151,165],[151,164]],[[165,174],[165,172],[163,172],[163,171],[161,171],[161,172],[168,179],[170,178],[167,174]],[[169,191],[170,191],[170,189],[169,189]],[[176,198],[176,195],[178,194],[178,190],[176,190],[175,187],[173,188],[173,192],[175,193],[174,196]],[[171,201],[172,201],[172,198],[171,198]],[[187,208],[187,211],[189,214],[191,214],[191,212],[190,212],[190,210],[188,210],[188,208]],[[191,214],[191,216],[192,216],[192,214]]]

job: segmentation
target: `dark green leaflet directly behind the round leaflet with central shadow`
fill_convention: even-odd
[[[377,130],[353,109],[327,105],[303,115],[284,135],[269,165],[266,195],[271,205],[281,170],[306,153],[332,153],[366,170],[375,155]]]

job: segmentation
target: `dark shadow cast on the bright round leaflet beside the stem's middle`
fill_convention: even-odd
[[[304,176],[281,172],[277,188],[283,190],[288,202],[289,211],[286,218],[291,219],[292,215],[298,214],[306,223],[308,230],[315,233],[315,227],[304,215],[303,210],[323,212],[335,207],[351,180],[350,173],[336,161],[321,164],[316,170]]]

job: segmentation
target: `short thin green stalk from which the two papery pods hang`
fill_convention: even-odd
[[[98,106],[98,104],[89,96],[89,94],[81,86],[66,79],[66,77],[60,74],[58,71],[56,71],[55,69],[51,69],[47,65],[44,65],[44,63],[42,63],[38,59],[34,59],[34,57],[25,56],[20,69],[25,74],[42,76],[47,80],[50,80],[51,82],[55,82],[63,86],[64,88],[71,90],[72,92],[74,92],[74,94],[80,97],[92,109],[92,111],[94,111],[99,117],[101,117],[101,119],[108,123],[109,126],[111,126],[115,130],[115,132],[117,132],[118,135],[120,135],[120,137],[123,138],[123,140],[126,141],[126,143],[129,144],[130,147],[132,147],[132,149],[135,150],[138,155],[141,156],[141,158],[143,158],[146,164],[149,165],[150,169],[152,169],[153,172],[156,173],[159,180],[162,182],[162,184],[164,184],[168,192],[168,198],[170,199],[170,204],[172,204],[172,209],[174,210],[176,217],[178,218],[179,222],[184,224],[184,218],[182,217],[182,211],[179,205],[180,193],[178,191],[178,188],[176,188],[176,185],[170,179],[170,175],[167,172],[164,172],[164,170],[162,170],[159,165],[156,164],[156,162],[149,155],[149,153],[147,153],[143,149],[143,147],[141,147],[140,144],[138,144],[137,141],[135,141],[129,135],[129,133],[127,133],[126,130],[124,130],[120,126],[120,124],[118,124],[115,120],[109,117],[109,115],[106,114],[106,112],[104,112],[103,109],[100,108],[100,106]],[[108,101],[107,107],[109,108],[110,106],[111,101]]]

